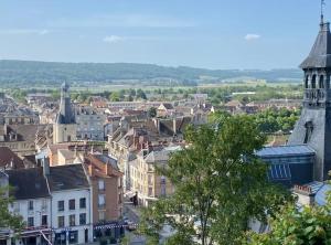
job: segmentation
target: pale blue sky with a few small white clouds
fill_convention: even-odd
[[[319,22],[320,0],[0,0],[0,60],[292,68]]]

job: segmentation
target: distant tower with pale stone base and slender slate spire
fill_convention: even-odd
[[[75,114],[71,105],[70,86],[63,83],[61,86],[60,110],[53,126],[53,142],[76,141]]]

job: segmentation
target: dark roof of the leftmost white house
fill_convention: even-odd
[[[41,168],[8,170],[9,184],[14,188],[15,200],[50,196],[46,179]]]

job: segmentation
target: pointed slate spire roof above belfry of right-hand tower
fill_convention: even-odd
[[[320,32],[309,56],[300,65],[301,68],[331,67],[330,23],[322,23]]]

